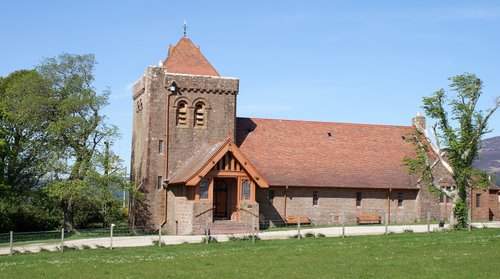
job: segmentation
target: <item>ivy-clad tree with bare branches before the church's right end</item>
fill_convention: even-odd
[[[422,172],[422,180],[430,185],[431,190],[443,193],[453,200],[450,223],[457,228],[465,228],[469,214],[468,193],[489,184],[487,174],[475,169],[473,162],[477,158],[482,136],[491,132],[487,126],[488,120],[500,107],[500,97],[496,97],[490,109],[482,111],[477,108],[483,88],[479,78],[465,73],[450,80],[453,94],[451,98],[448,98],[443,89],[430,97],[424,97],[425,113],[436,120],[431,127],[434,137],[431,140],[425,127],[417,125],[417,130],[421,133],[414,137],[418,156],[416,159],[406,158],[405,162],[409,165],[410,172]],[[454,188],[446,189],[435,181],[432,169],[438,162],[453,178]]]

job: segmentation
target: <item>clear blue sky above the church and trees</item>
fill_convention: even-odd
[[[0,76],[94,53],[128,165],[131,85],[188,36],[240,79],[238,116],[408,125],[464,72],[500,95],[499,1],[3,1]],[[428,120],[432,123],[432,120]],[[500,112],[490,122],[500,135]]]

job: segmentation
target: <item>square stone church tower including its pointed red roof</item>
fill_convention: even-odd
[[[168,214],[179,209],[168,196],[186,193],[172,192],[169,178],[207,144],[234,140],[238,87],[238,79],[221,77],[186,36],[159,66],[146,69],[132,92],[131,160],[131,179],[146,200],[131,202],[131,225],[173,230]]]

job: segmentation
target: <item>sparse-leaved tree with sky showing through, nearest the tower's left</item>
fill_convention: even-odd
[[[104,148],[104,141],[118,134],[102,114],[109,90],[98,94],[92,84],[95,65],[92,54],[61,54],[37,67],[50,82],[52,100],[57,104],[49,125],[57,152],[50,162],[53,182],[47,191],[60,200],[69,231],[75,230],[74,203],[91,193],[88,175],[93,159]]]

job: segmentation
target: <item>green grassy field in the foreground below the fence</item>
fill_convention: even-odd
[[[500,230],[0,257],[0,278],[499,278]]]

